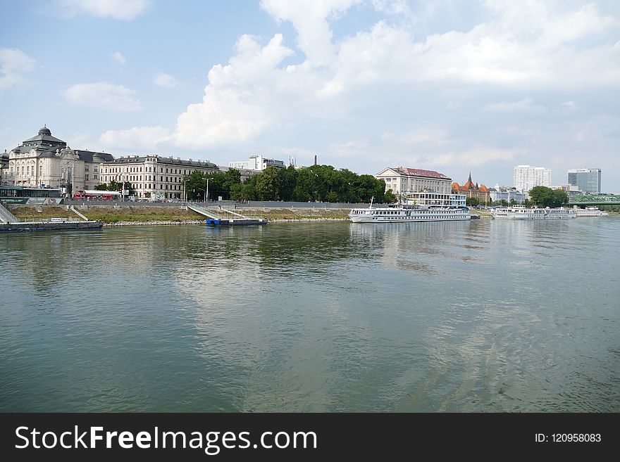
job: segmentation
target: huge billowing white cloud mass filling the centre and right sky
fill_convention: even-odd
[[[138,145],[155,130],[161,136],[151,141],[192,150],[299,146],[325,163],[355,155],[371,172],[386,162],[459,169],[562,150],[550,135],[567,129],[567,117],[552,120],[559,108],[574,110],[569,103],[585,91],[619,90],[619,23],[593,5],[488,1],[478,12],[484,21],[421,36],[407,4],[366,0],[360,9],[372,5],[384,18],[335,39],[333,21],[359,3],[261,1],[276,21],[292,23],[296,47],[281,34],[242,35],[174,129],[106,133]],[[430,16],[454,13],[452,3],[427,2]],[[614,132],[597,136],[606,133]]]

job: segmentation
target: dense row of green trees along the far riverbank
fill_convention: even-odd
[[[209,185],[207,187],[207,179]],[[376,203],[396,200],[392,191],[385,192],[385,181],[372,175],[358,175],[347,169],[337,170],[331,165],[312,165],[296,169],[267,167],[241,181],[236,169],[204,174],[193,172],[185,177],[187,197],[202,200],[207,189],[209,198],[224,200],[284,200],[298,202]]]

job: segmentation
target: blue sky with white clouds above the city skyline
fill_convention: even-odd
[[[0,0],[0,147],[620,193],[620,2]]]

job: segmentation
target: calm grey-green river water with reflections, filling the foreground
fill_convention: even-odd
[[[619,411],[619,219],[0,236],[1,411]]]

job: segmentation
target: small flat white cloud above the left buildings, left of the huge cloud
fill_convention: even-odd
[[[63,91],[63,96],[70,104],[109,110],[139,110],[140,101],[134,94],[134,90],[123,85],[107,82],[75,84]]]

